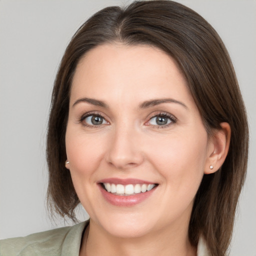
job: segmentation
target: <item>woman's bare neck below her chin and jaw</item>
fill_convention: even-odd
[[[195,256],[196,248],[190,244],[187,230],[188,223],[186,229],[168,227],[140,237],[123,238],[106,233],[90,220],[82,238],[79,256]]]

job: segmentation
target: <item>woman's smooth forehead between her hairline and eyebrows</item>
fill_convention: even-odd
[[[176,97],[193,101],[184,75],[169,55],[149,45],[120,43],[99,45],[80,59],[70,100],[81,96],[123,101]]]

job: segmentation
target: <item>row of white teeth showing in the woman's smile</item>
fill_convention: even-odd
[[[155,187],[155,184],[110,184],[110,183],[103,183],[107,192],[116,193],[120,195],[128,195],[128,194],[136,194],[136,193],[144,193],[145,191],[151,190]]]

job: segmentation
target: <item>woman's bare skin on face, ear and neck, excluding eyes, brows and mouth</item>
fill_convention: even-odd
[[[84,97],[108,107],[79,101]],[[141,107],[166,98],[174,102]],[[104,121],[92,125],[85,113]],[[169,123],[158,125],[163,113]],[[221,127],[207,136],[184,76],[160,49],[113,43],[88,51],[73,77],[65,136],[66,167],[90,216],[80,255],[196,255],[188,223],[203,174],[227,153],[230,128]],[[112,205],[97,184],[112,177],[158,186],[136,205]]]

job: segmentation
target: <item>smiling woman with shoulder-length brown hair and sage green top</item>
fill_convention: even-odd
[[[1,255],[224,255],[247,133],[201,16],[172,1],[105,8],[65,51],[47,135],[49,202],[73,220],[81,202],[90,220],[7,239]]]

